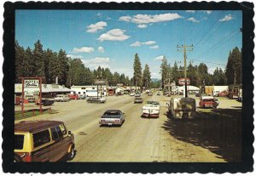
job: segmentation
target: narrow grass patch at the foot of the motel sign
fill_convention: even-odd
[[[58,111],[51,110],[51,109],[45,109],[42,112],[40,112],[40,110],[38,110],[38,109],[29,110],[29,111],[24,111],[23,114],[21,111],[15,111],[15,121],[25,119],[28,117],[32,117],[32,116],[39,116],[39,115],[43,115],[43,114],[56,114],[56,113],[58,113]]]

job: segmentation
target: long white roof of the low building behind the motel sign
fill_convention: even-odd
[[[24,88],[25,92],[36,93],[39,92],[39,88]],[[61,86],[58,84],[42,84],[42,92],[43,93],[55,93],[55,92],[71,92],[70,88],[66,88],[65,86]],[[22,84],[15,83],[15,93],[22,92]]]

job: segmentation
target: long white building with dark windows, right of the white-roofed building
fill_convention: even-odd
[[[101,89],[102,88],[102,89]],[[102,96],[107,96],[107,87],[106,85],[90,85],[90,86],[72,86],[70,89],[72,89],[73,94],[83,94],[86,95],[88,97],[96,97],[97,93],[98,96],[101,96],[101,92],[102,92]],[[98,92],[97,92],[98,89]]]

